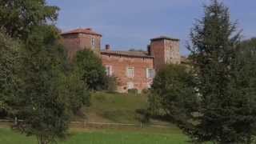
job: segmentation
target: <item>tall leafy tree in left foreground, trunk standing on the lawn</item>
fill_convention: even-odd
[[[14,127],[35,135],[39,143],[64,136],[70,118],[69,102],[58,89],[65,54],[56,34],[54,26],[37,26],[30,32],[19,59],[19,87],[9,104],[10,116],[23,120]]]

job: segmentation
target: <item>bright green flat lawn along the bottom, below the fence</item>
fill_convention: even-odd
[[[183,144],[186,137],[180,133],[145,133],[121,130],[90,130],[89,132],[73,130],[61,144]],[[1,144],[34,144],[36,138],[13,132],[10,129],[0,129]]]

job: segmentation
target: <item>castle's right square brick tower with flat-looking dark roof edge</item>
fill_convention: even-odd
[[[150,54],[154,56],[155,70],[160,70],[168,63],[180,64],[179,39],[161,36],[150,41]]]

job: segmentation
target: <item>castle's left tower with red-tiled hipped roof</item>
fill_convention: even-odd
[[[74,58],[78,50],[90,49],[95,54],[100,55],[102,34],[94,32],[92,29],[76,29],[62,33],[63,45],[68,57]]]

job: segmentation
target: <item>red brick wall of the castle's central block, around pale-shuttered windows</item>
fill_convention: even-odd
[[[102,54],[102,63],[104,66],[112,67],[112,74],[118,78],[118,92],[127,91],[127,82],[133,82],[134,88],[144,90],[153,81],[152,78],[146,78],[146,68],[154,68],[154,58]],[[134,67],[134,78],[126,76],[127,67]]]

